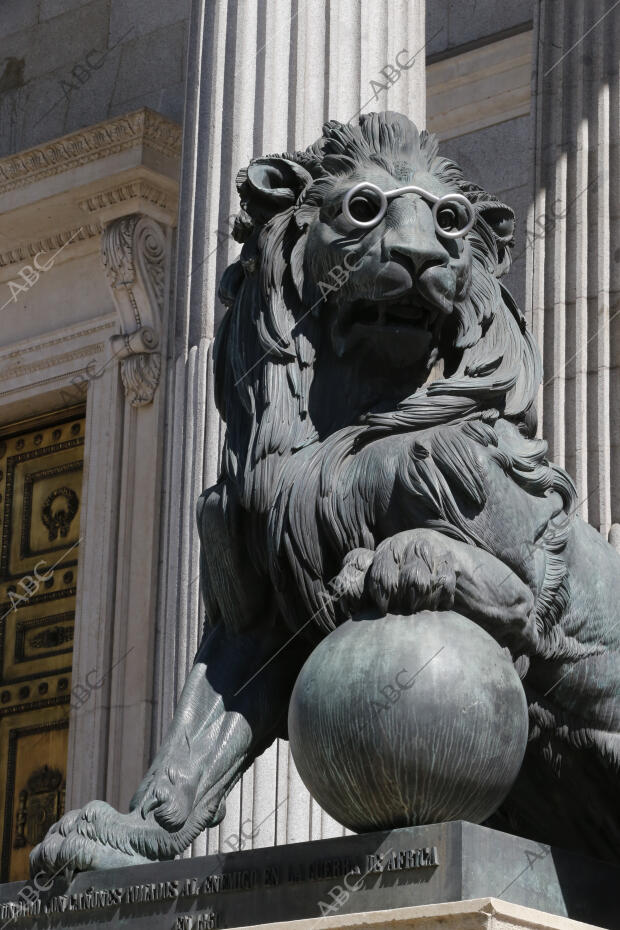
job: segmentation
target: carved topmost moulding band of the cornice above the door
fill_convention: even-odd
[[[178,160],[181,139],[180,126],[145,107],[0,159],[0,194],[137,146]]]

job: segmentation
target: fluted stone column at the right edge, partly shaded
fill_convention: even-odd
[[[620,6],[540,0],[535,20],[528,296],[544,358],[540,426],[582,516],[607,535],[620,520]]]

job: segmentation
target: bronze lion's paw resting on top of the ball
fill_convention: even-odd
[[[456,574],[449,543],[432,530],[410,530],[384,540],[373,552],[354,549],[332,583],[348,612],[371,606],[412,614],[454,605]]]

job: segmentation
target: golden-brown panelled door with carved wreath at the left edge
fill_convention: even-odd
[[[0,431],[0,881],[64,810],[84,411]]]

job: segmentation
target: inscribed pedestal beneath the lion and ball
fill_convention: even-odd
[[[453,822],[4,885],[0,924],[620,930],[619,882],[620,868]]]

